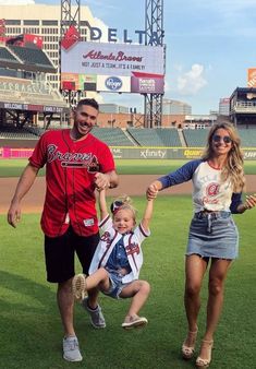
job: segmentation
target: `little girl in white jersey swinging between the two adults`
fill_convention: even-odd
[[[138,279],[143,264],[141,243],[150,235],[153,200],[147,200],[143,219],[137,227],[136,212],[129,197],[111,204],[111,218],[107,209],[106,191],[101,190],[99,209],[102,236],[92,260],[89,276],[78,274],[73,278],[74,296],[83,299],[88,289],[98,287],[112,298],[132,297],[122,328],[142,328],[147,324],[147,319],[139,317],[138,312],[147,300],[150,286],[148,282]]]

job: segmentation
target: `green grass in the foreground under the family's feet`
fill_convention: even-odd
[[[145,200],[134,198],[142,216]],[[100,295],[107,320],[105,330],[94,330],[77,305],[75,328],[84,361],[61,357],[62,329],[56,305],[56,286],[45,281],[42,234],[39,214],[23,215],[16,229],[0,216],[1,369],[185,369],[180,350],[186,333],[183,308],[184,250],[192,215],[190,197],[159,197],[155,203],[151,237],[144,246],[141,277],[151,285],[142,314],[144,330],[121,329],[129,300]],[[223,313],[215,337],[212,369],[255,368],[256,211],[235,215],[240,229],[240,258],[229,271]],[[78,264],[77,272],[81,272]],[[202,294],[199,337],[206,319],[207,281]],[[198,342],[199,344],[199,342]]]

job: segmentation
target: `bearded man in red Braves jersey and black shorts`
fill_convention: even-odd
[[[95,99],[82,99],[74,110],[72,129],[45,132],[24,169],[8,212],[8,222],[16,227],[21,219],[21,201],[46,165],[46,199],[41,215],[45,234],[47,281],[58,283],[57,300],[64,329],[63,357],[81,361],[78,341],[73,326],[74,300],[71,283],[75,274],[74,254],[88,274],[99,241],[95,189],[114,188],[118,176],[109,147],[90,130],[99,108]],[[84,299],[95,328],[105,328],[97,303],[98,291]]]

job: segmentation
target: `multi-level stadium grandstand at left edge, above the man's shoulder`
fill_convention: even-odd
[[[0,41],[0,110],[21,124],[33,120],[36,112],[50,117],[69,114],[63,96],[47,82],[45,73],[57,73],[57,68],[42,50],[40,38],[27,34]]]

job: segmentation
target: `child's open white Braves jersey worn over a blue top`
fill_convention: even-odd
[[[99,245],[92,260],[89,274],[107,264],[114,246],[122,237],[120,233],[113,229],[113,223],[109,215],[101,221],[99,227],[102,229],[103,234],[100,237]],[[122,277],[123,283],[129,283],[138,278],[139,270],[143,264],[143,251],[141,245],[149,235],[150,231],[145,231],[141,224],[133,231],[124,235],[123,246],[132,271]]]

